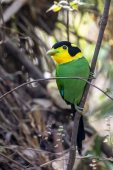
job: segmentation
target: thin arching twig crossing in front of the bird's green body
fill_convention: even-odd
[[[98,89],[99,91],[101,91],[102,93],[104,93],[106,96],[108,96],[111,100],[113,100],[112,97],[110,97],[106,92],[104,92],[103,90],[101,90],[99,87],[93,85],[92,83],[90,83],[89,81],[85,80],[87,78],[85,77],[52,77],[52,78],[44,78],[44,79],[36,79],[36,80],[33,80],[33,81],[29,81],[27,83],[23,83],[21,84],[20,86],[17,86],[15,87],[14,89],[8,91],[7,93],[3,94],[2,96],[0,96],[0,99],[2,99],[3,97],[7,96],[8,94],[12,93],[13,91],[16,91],[18,90],[19,88],[21,87],[24,87],[28,84],[31,84],[31,83],[36,83],[36,82],[42,82],[42,81],[47,81],[47,80],[55,80],[55,79],[80,79],[80,80],[83,80],[85,81],[86,83],[88,83],[89,85],[95,87],[96,89]],[[95,78],[89,78],[89,79],[95,79]]]

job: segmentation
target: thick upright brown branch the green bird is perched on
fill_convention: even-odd
[[[101,43],[102,43],[104,30],[105,30],[105,27],[106,27],[106,24],[107,24],[110,2],[111,2],[111,0],[105,1],[104,12],[102,14],[101,23],[100,23],[100,31],[99,31],[98,40],[97,40],[97,44],[96,44],[96,48],[95,48],[95,52],[94,52],[94,56],[93,56],[93,60],[92,60],[92,64],[91,64],[91,72],[92,73],[95,70],[100,46],[101,46]],[[87,98],[87,94],[88,94],[88,91],[89,91],[89,87],[90,87],[90,85],[87,84],[85,89],[84,89],[84,93],[83,93],[83,96],[82,96],[82,99],[81,99],[80,105],[79,105],[82,108],[84,107],[84,104],[85,104],[85,101],[86,101],[86,98]],[[76,158],[76,141],[77,141],[77,133],[78,133],[78,126],[79,126],[80,117],[81,117],[81,115],[78,112],[76,112],[75,118],[74,118],[74,125],[73,125],[73,129],[72,129],[71,147],[70,147],[67,170],[72,170],[74,162],[75,162],[75,158]]]

